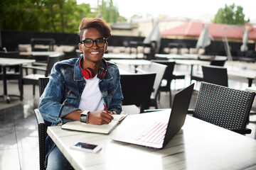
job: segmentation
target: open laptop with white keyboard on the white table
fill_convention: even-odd
[[[191,84],[175,94],[171,109],[128,115],[110,134],[110,139],[144,147],[164,148],[185,122],[193,86]],[[168,115],[164,116],[166,112]]]

